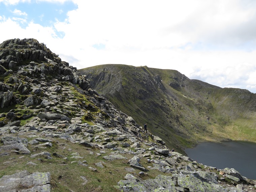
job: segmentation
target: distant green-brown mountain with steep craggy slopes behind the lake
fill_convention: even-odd
[[[189,79],[175,70],[99,65],[79,70],[140,125],[182,152],[199,141],[256,141],[256,95]]]

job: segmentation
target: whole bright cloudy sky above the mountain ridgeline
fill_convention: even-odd
[[[77,69],[146,65],[256,93],[255,0],[0,0],[0,43],[13,38]]]

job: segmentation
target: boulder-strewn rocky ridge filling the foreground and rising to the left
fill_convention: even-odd
[[[0,191],[256,191],[232,168],[170,152],[35,39],[4,41],[0,74]]]

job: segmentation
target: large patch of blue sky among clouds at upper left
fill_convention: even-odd
[[[26,29],[30,22],[43,27],[53,27],[56,21],[64,22],[67,19],[67,12],[77,9],[77,5],[72,1],[47,2],[31,1],[6,4],[0,1],[0,15],[16,21],[23,29]],[[55,31],[58,37],[63,37],[63,33]]]

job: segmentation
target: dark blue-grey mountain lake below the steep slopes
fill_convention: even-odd
[[[256,143],[248,141],[203,142],[186,149],[188,157],[218,169],[234,168],[248,179],[256,179]]]

